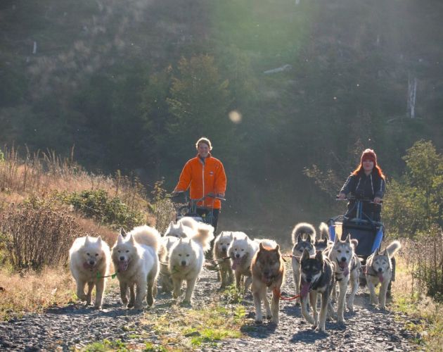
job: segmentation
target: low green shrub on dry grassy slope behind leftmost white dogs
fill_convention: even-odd
[[[132,229],[142,225],[144,215],[140,211],[131,210],[117,196],[110,196],[103,189],[84,190],[72,194],[64,194],[63,201],[74,206],[86,218],[94,218],[114,227]]]

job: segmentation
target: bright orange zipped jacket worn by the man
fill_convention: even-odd
[[[221,161],[212,157],[211,154],[205,158],[204,163],[198,156],[189,160],[181,171],[175,191],[186,191],[190,185],[191,199],[203,198],[208,193],[224,194],[226,174]],[[203,202],[197,203],[197,206],[219,209],[221,202],[219,199],[207,197]]]

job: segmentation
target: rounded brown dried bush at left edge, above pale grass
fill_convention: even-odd
[[[0,234],[0,246],[14,270],[65,263],[74,239],[85,235],[67,210],[36,199],[0,210]]]

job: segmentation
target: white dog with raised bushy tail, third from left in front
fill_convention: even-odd
[[[186,280],[186,294],[183,303],[191,303],[195,282],[205,262],[205,251],[210,249],[214,239],[214,227],[200,224],[193,237],[181,238],[171,248],[169,254],[169,272],[174,285],[174,298],[181,294],[181,284]]]

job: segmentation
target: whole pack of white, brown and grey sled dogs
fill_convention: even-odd
[[[77,296],[89,305],[92,290],[96,287],[94,307],[101,309],[112,260],[120,282],[122,303],[127,308],[141,309],[145,299],[148,306],[152,306],[159,276],[162,290],[172,291],[174,298],[181,296],[181,286],[186,282],[183,303],[191,303],[205,263],[205,253],[214,239],[213,232],[211,225],[182,218],[176,224],[171,222],[163,237],[147,225],[135,227],[131,232],[120,230],[112,249],[101,237],[79,237],[70,249],[70,270],[77,282]],[[301,303],[302,315],[321,332],[325,332],[328,317],[344,324],[345,305],[350,311],[354,309],[354,296],[359,285],[361,263],[354,252],[358,241],[351,239],[349,234],[346,239],[336,236],[335,241],[330,241],[326,224],[321,223],[317,235],[307,222],[295,225],[292,240],[290,257],[295,294],[300,297],[297,304]],[[387,287],[392,278],[391,258],[400,247],[399,241],[392,241],[386,249],[375,251],[366,260],[364,271],[371,303],[380,304],[382,309],[385,309]],[[250,239],[244,232],[223,231],[214,241],[213,258],[219,270],[220,288],[231,284],[235,277],[237,289],[252,290],[255,321],[263,321],[263,303],[266,318],[278,324],[285,265],[276,241]],[[348,284],[350,293],[347,295]],[[378,284],[380,293],[377,297],[375,287]],[[267,297],[269,291],[272,292],[271,304]],[[317,312],[319,294],[320,314]],[[335,300],[336,312],[332,304]]]

